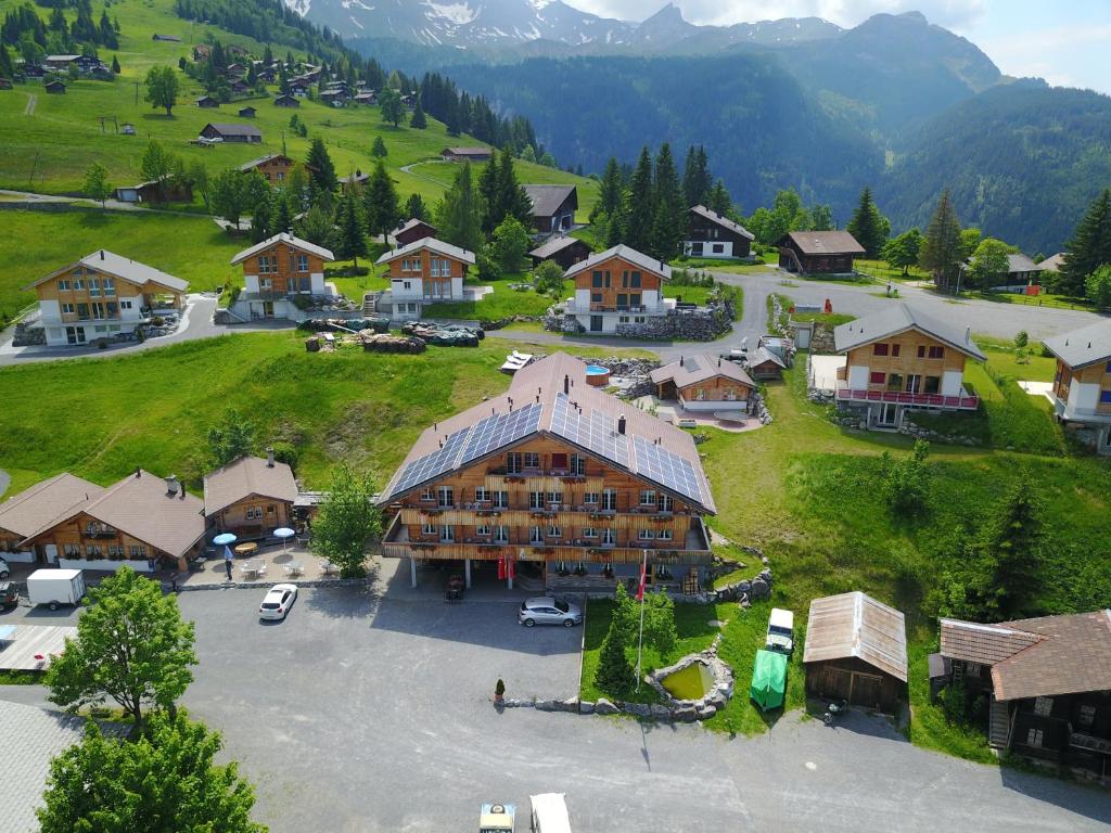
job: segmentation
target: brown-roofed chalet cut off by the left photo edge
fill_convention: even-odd
[[[68,510],[103,493],[103,488],[62,472],[0,503],[0,558],[8,562],[57,561],[57,550],[22,542]]]

